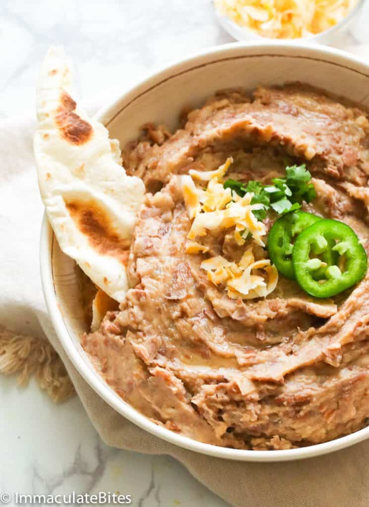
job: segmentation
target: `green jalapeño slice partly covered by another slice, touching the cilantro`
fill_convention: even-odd
[[[295,211],[287,213],[274,223],[269,232],[267,247],[270,259],[282,275],[294,280],[292,242],[302,231],[320,220],[323,219],[312,213]]]

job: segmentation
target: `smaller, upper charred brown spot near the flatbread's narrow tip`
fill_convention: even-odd
[[[64,139],[72,144],[84,144],[91,138],[93,130],[88,122],[74,113],[76,106],[71,96],[63,91],[55,121]]]

